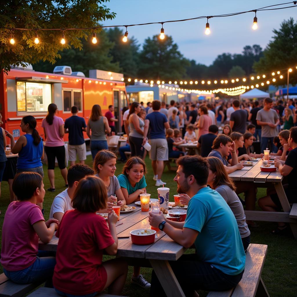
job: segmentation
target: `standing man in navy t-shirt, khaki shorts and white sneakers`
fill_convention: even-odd
[[[153,112],[146,115],[143,129],[143,144],[147,142],[147,135],[149,132],[149,144],[151,150],[149,151],[149,158],[154,170],[155,186],[162,186],[166,184],[161,180],[164,170],[164,161],[168,160],[168,144],[165,135],[165,129],[169,129],[167,117],[160,113],[161,102],[154,100],[152,103]]]

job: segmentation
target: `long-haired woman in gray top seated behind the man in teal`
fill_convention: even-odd
[[[235,185],[228,176],[222,161],[217,157],[207,157],[209,175],[207,184],[216,190],[227,202],[236,219],[244,250],[250,244],[251,232],[247,225],[243,206],[235,193]]]

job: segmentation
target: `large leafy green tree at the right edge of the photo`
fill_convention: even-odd
[[[293,18],[284,20],[281,23],[280,29],[274,29],[273,33],[274,36],[272,36],[272,40],[264,50],[263,57],[254,64],[254,69],[257,73],[272,72],[296,66],[297,21],[294,23]],[[282,85],[286,81],[280,83],[277,80],[276,83]],[[297,83],[296,71],[290,74],[290,83]]]

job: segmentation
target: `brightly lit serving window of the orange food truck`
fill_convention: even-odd
[[[17,81],[18,112],[46,112],[52,103],[50,83]]]

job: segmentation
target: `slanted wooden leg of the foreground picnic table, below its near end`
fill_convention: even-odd
[[[163,260],[150,260],[159,282],[161,283],[167,297],[181,296],[185,297],[181,286],[176,279],[168,261]]]

